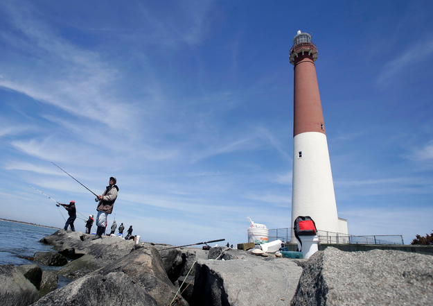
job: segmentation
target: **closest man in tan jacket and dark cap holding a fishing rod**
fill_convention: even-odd
[[[113,206],[118,192],[116,182],[116,178],[111,176],[109,178],[109,185],[105,188],[103,194],[97,196],[99,202],[98,207],[96,208],[98,211],[98,215],[96,216],[96,226],[98,226],[98,229],[96,230],[96,237],[94,237],[94,239],[102,238],[102,235],[105,232],[105,227],[107,226],[107,217],[113,212]]]

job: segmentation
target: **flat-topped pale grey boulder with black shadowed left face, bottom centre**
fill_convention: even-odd
[[[191,305],[288,305],[302,268],[287,258],[198,260]]]

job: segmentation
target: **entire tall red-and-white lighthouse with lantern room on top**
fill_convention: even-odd
[[[337,215],[316,60],[317,47],[311,35],[298,31],[290,49],[290,63],[294,66],[291,224],[297,216],[311,216],[319,235],[338,237],[347,235],[347,223]],[[292,241],[293,237],[292,230]]]

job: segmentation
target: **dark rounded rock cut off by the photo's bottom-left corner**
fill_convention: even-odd
[[[19,273],[13,264],[0,266],[0,301],[2,306],[35,303],[39,298],[36,287]]]

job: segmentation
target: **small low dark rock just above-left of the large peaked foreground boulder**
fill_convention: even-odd
[[[93,255],[86,254],[78,258],[78,260],[73,260],[65,266],[62,266],[62,269],[58,271],[58,275],[71,279],[81,278],[84,275],[102,268],[105,264],[103,260],[96,259]]]

